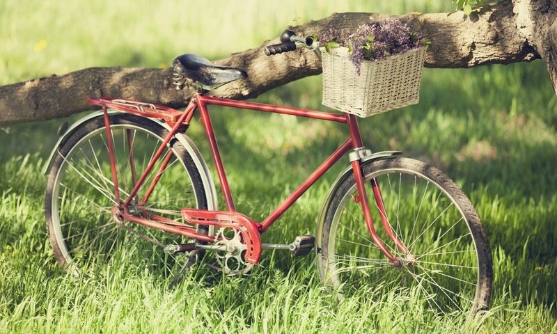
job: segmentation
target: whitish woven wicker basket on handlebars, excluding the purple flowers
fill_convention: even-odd
[[[360,75],[347,57],[347,48],[322,50],[323,102],[338,111],[369,117],[416,104],[427,47],[390,56],[383,61],[363,61]]]

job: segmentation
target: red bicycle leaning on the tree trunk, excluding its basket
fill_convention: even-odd
[[[315,44],[292,35],[268,47],[267,54],[315,49]],[[237,275],[258,264],[263,248],[296,256],[315,248],[320,278],[342,285],[343,294],[383,285],[401,294],[422,294],[437,312],[474,314],[487,308],[492,258],[486,233],[470,200],[444,173],[398,157],[400,152],[370,152],[356,116],[349,113],[206,95],[245,79],[240,68],[213,65],[194,54],[179,56],[173,65],[178,88],[197,88],[185,111],[92,98],[88,102],[102,111],[72,125],[52,152],[46,220],[54,254],[65,269],[79,275],[125,255],[168,267],[172,279],[179,280],[198,262]],[[210,105],[340,122],[350,135],[267,218],[254,221],[235,209]],[[217,170],[222,210],[207,165],[187,136],[196,113]],[[263,243],[263,232],[346,154],[350,166],[324,200],[316,236]]]

